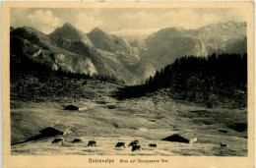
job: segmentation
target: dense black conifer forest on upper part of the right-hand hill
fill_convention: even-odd
[[[192,81],[206,86],[245,89],[247,85],[247,54],[215,53],[208,57],[185,56],[178,58],[150,77],[146,84],[149,91],[164,87],[186,89]],[[195,82],[196,83],[196,82]],[[191,86],[195,86],[192,84]]]

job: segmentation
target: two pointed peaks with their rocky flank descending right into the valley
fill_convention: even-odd
[[[74,38],[60,33],[68,28],[73,29],[72,33],[79,33],[74,36],[82,36],[79,30],[74,31],[74,27],[64,25],[50,34],[51,43],[90,58],[95,65],[97,74],[115,76],[124,81],[140,81],[126,68],[128,65],[134,65],[140,61],[139,51],[136,47],[130,46],[121,37],[107,34],[98,28],[89,34],[83,34],[83,38],[79,37],[74,40]],[[70,68],[67,71],[70,71]]]

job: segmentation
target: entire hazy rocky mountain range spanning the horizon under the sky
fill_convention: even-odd
[[[247,52],[246,23],[227,22],[198,29],[162,28],[144,39],[126,40],[100,28],[89,33],[64,24],[45,34],[10,28],[11,60],[28,57],[52,70],[115,76],[139,84],[183,56]]]

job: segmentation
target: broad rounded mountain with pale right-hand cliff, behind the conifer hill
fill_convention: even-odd
[[[175,28],[161,29],[147,38],[146,45],[145,55],[153,60],[157,70],[185,55],[207,55],[203,42]]]

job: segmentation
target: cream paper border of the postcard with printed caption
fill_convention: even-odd
[[[150,155],[140,154],[141,151],[135,151],[134,155],[116,155],[103,153],[100,155],[82,155],[82,154],[12,154],[11,149],[11,107],[10,107],[10,13],[12,9],[39,8],[39,9],[236,9],[237,11],[246,11],[247,23],[247,109],[248,109],[248,129],[247,129],[247,154],[245,156],[216,156],[216,155],[164,155],[154,153]],[[114,10],[113,10],[114,11]],[[254,74],[254,3],[253,2],[2,2],[2,161],[3,167],[254,167],[255,164],[255,74]],[[191,13],[193,14],[193,13]],[[68,13],[63,13],[67,15]],[[170,14],[171,15],[171,14]],[[114,16],[114,15],[113,15]],[[199,15],[200,16],[200,15]],[[49,16],[47,16],[49,17]],[[116,16],[118,17],[118,16]],[[133,17],[132,13],[128,17]],[[148,16],[148,22],[156,22],[153,16]],[[196,17],[196,16],[195,16]],[[203,17],[203,16],[202,16]],[[223,16],[225,17],[225,16]],[[32,18],[32,16],[31,16]],[[211,18],[209,18],[210,20]],[[33,18],[36,20],[36,18]],[[46,20],[46,18],[45,18]],[[111,19],[109,19],[109,23]],[[186,18],[180,18],[186,20]],[[207,22],[207,18],[205,19]],[[32,20],[31,20],[32,21]],[[165,21],[171,22],[171,21]],[[189,21],[187,21],[189,24]],[[200,22],[198,22],[200,23]],[[133,23],[136,25],[136,23]],[[122,25],[122,23],[120,23]],[[124,24],[125,25],[125,24]],[[149,24],[151,25],[151,24]],[[186,26],[183,24],[182,26]],[[110,28],[110,27],[109,27]],[[190,28],[188,26],[188,28]],[[191,27],[192,28],[192,27]],[[149,29],[148,29],[149,30]],[[121,30],[113,30],[122,33]],[[139,33],[142,33],[141,30]],[[143,130],[140,130],[143,131]],[[145,132],[145,134],[148,132]],[[86,136],[86,135],[85,135]],[[124,138],[125,139],[125,138]],[[200,139],[200,137],[198,137]],[[96,137],[97,140],[97,137]],[[100,139],[101,140],[101,139]],[[118,140],[118,139],[115,139]],[[123,139],[122,139],[123,140]],[[196,143],[195,143],[196,144]],[[197,144],[199,146],[199,144]],[[204,144],[202,144],[204,145]],[[228,144],[227,144],[228,145]],[[220,145],[219,145],[220,146]],[[228,148],[229,149],[229,148]],[[143,149],[142,149],[143,150]],[[94,149],[92,149],[94,152]],[[136,153],[137,152],[137,153]],[[99,163],[92,160],[108,159],[107,163]],[[110,161],[109,161],[110,160]],[[139,160],[158,160],[159,162],[140,162]]]

